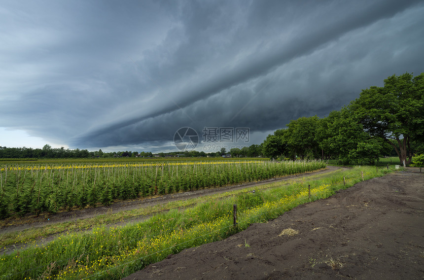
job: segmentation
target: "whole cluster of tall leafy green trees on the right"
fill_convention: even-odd
[[[341,164],[374,163],[394,153],[411,163],[424,153],[424,72],[392,75],[383,87],[361,91],[358,99],[327,117],[301,117],[268,135],[270,158],[337,159]]]

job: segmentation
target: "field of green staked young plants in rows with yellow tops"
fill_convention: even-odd
[[[0,165],[0,218],[107,206],[117,200],[221,187],[325,167],[321,161],[96,161]]]

